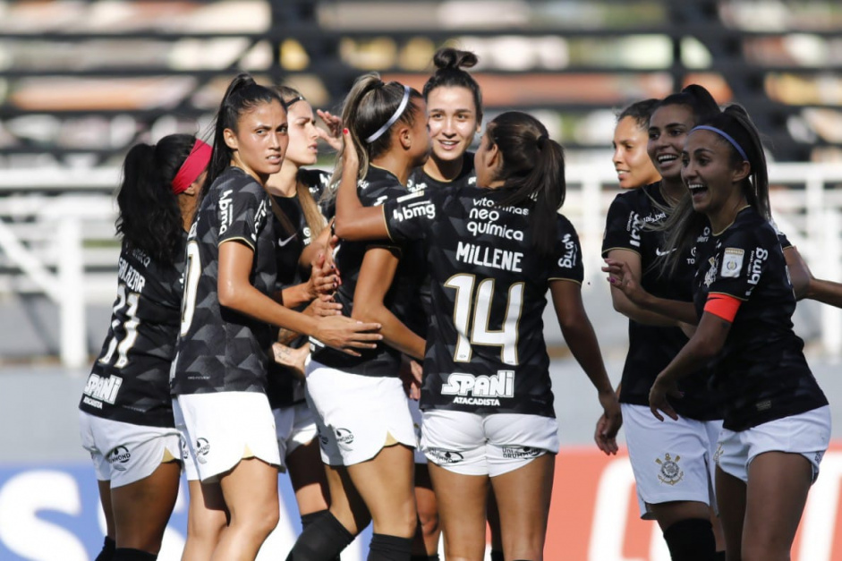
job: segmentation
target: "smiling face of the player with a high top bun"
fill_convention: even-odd
[[[480,131],[477,107],[470,89],[441,86],[427,95],[433,157],[440,161],[461,158]]]

